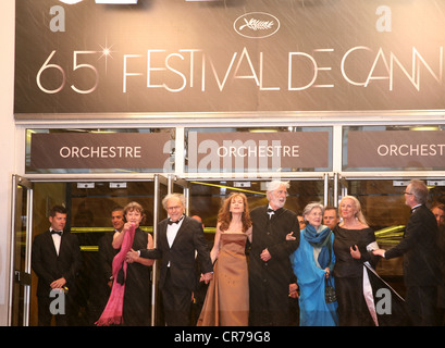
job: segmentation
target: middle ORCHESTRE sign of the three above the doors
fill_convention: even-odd
[[[280,174],[301,169],[329,170],[329,132],[190,132],[188,171]]]

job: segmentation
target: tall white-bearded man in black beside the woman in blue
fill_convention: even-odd
[[[250,325],[289,325],[289,284],[295,282],[289,256],[299,245],[297,214],[284,207],[288,183],[272,182],[268,206],[255,208],[249,253]],[[286,235],[294,233],[294,240]]]

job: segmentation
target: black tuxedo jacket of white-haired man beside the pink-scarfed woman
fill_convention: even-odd
[[[169,246],[166,239],[168,219],[158,224],[158,240],[156,249],[143,249],[140,256],[146,259],[160,259],[159,287],[165,284],[168,265],[170,263],[170,275],[173,286],[195,290],[197,285],[195,274],[195,250],[198,252],[201,272],[213,271],[210,251],[203,235],[202,224],[195,219],[184,216],[184,221],[176,237]]]

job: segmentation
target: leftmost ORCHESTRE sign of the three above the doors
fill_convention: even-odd
[[[33,169],[170,169],[169,133],[33,134]]]

